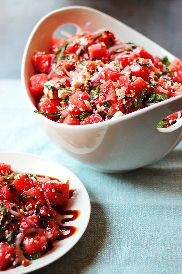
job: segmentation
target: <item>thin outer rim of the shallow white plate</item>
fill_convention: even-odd
[[[71,170],[69,170],[67,167],[63,166],[61,163],[58,163],[57,161],[54,161],[54,160],[51,160],[49,158],[45,158],[45,157],[42,157],[42,156],[39,156],[39,155],[36,155],[36,154],[33,154],[33,153],[24,153],[24,152],[11,152],[11,151],[0,151],[0,156],[2,154],[13,154],[13,155],[26,155],[26,156],[33,156],[33,157],[36,157],[36,158],[39,158],[39,159],[43,159],[45,161],[49,161],[49,162],[52,162],[52,163],[57,163],[58,165],[64,167],[65,171],[68,171],[69,174],[71,174],[73,177],[76,177],[77,180],[79,181],[80,185],[82,186],[82,188],[84,189],[85,191],[85,195],[87,197],[87,202],[88,202],[88,215],[87,215],[87,219],[86,219],[86,222],[85,222],[85,225],[83,226],[83,230],[82,230],[82,233],[79,235],[79,237],[76,238],[75,241],[72,242],[72,244],[70,244],[69,248],[66,248],[64,252],[62,252],[62,255],[61,256],[55,256],[54,258],[52,258],[51,260],[48,260],[47,262],[45,262],[45,264],[43,264],[42,266],[40,267],[36,267],[36,266],[33,266],[32,269],[28,269],[25,267],[25,269],[23,269],[22,271],[20,270],[20,274],[23,274],[23,273],[29,273],[29,272],[32,272],[32,271],[35,271],[35,270],[39,270],[39,269],[42,269],[43,267],[47,266],[47,265],[50,265],[51,263],[55,262],[56,260],[62,258],[67,252],[69,252],[76,244],[77,242],[81,239],[81,237],[83,236],[83,234],[85,233],[86,231],[86,228],[88,227],[88,224],[89,224],[89,220],[90,220],[90,214],[91,214],[91,203],[90,203],[90,198],[89,198],[89,194],[87,192],[87,189],[85,187],[85,185],[82,183],[82,181],[79,179],[79,177],[77,177],[77,175],[75,173],[73,173]],[[46,254],[45,254],[46,256]],[[21,266],[21,265],[20,265]],[[16,268],[15,268],[16,269]],[[4,273],[8,273],[8,269],[4,271]]]

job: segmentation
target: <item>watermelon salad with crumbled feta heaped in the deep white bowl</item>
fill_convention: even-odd
[[[86,125],[115,119],[182,94],[182,61],[160,59],[108,30],[53,37],[49,52],[32,56],[30,93],[38,114],[57,123]],[[174,124],[181,113],[158,125]]]

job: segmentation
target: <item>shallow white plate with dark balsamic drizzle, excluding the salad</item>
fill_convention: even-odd
[[[72,236],[53,242],[53,248],[41,258],[31,261],[29,266],[20,265],[16,268],[4,270],[6,274],[23,274],[54,262],[68,252],[82,237],[89,223],[90,200],[86,188],[76,175],[62,165],[33,154],[25,153],[0,153],[0,162],[11,164],[12,170],[33,174],[47,175],[66,182],[70,180],[70,189],[77,189],[76,193],[69,199],[66,209],[80,210],[79,217],[66,225],[72,225],[78,230]],[[63,218],[66,216],[62,216]]]

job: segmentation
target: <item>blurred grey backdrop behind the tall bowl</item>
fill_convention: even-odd
[[[0,78],[20,78],[23,50],[35,24],[47,12],[69,5],[101,10],[182,58],[182,0],[1,0]]]

